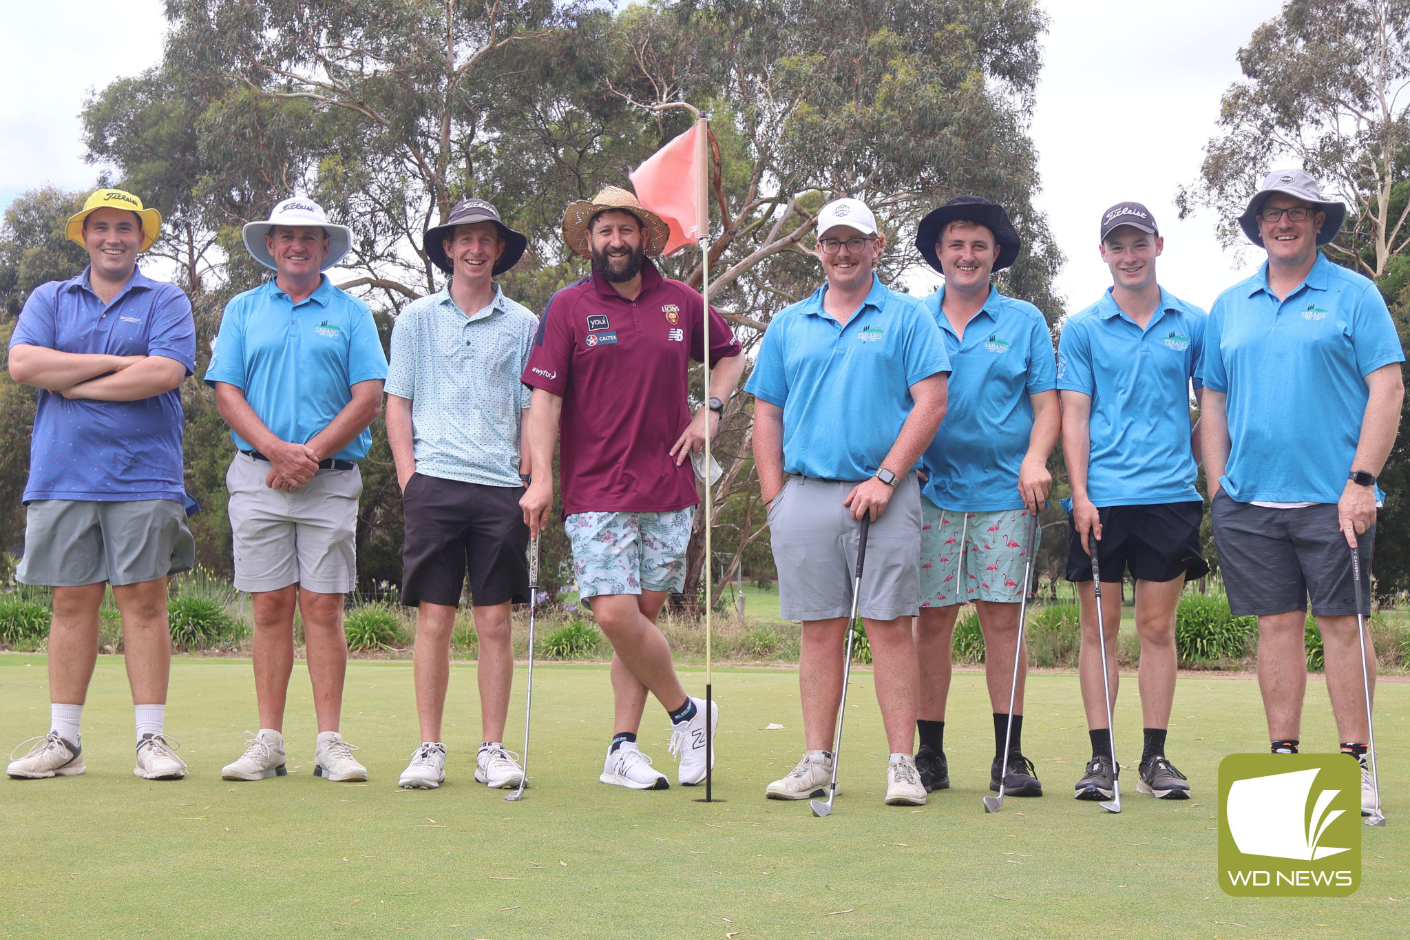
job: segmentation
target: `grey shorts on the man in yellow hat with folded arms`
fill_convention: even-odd
[[[190,571],[196,541],[175,499],[37,499],[25,510],[21,583],[137,585]]]

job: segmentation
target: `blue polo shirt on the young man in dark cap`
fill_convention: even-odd
[[[1203,499],[1190,451],[1190,379],[1200,386],[1207,320],[1162,287],[1142,330],[1107,287],[1063,323],[1058,388],[1091,396],[1087,497],[1094,506]]]

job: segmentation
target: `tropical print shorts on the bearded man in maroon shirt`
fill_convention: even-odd
[[[668,513],[572,513],[565,527],[578,598],[680,590],[694,521],[694,506]]]

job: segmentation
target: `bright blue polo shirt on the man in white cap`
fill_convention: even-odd
[[[774,316],[744,390],[784,410],[787,474],[863,481],[895,444],[911,386],[950,361],[919,302],[876,275],[846,326],[823,313],[826,290]]]

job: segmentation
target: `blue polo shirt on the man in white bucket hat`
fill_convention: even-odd
[[[352,400],[358,382],[386,378],[386,355],[372,311],[323,276],[319,289],[295,304],[269,278],[226,304],[207,385],[227,382],[279,440],[306,444]],[[243,451],[254,447],[234,431]],[[367,455],[372,433],[362,431],[334,459]]]

